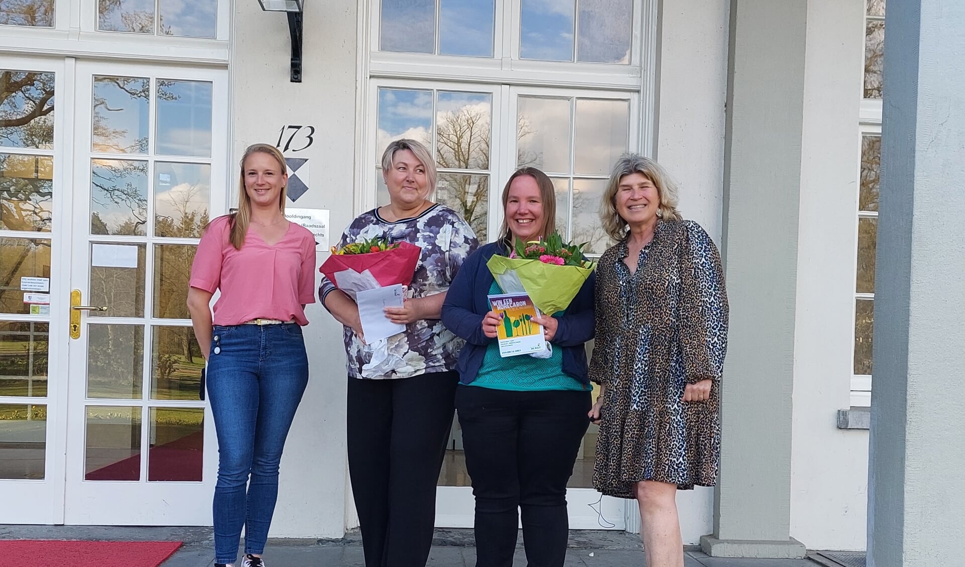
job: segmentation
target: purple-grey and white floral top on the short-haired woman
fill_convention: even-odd
[[[406,241],[422,248],[409,285],[409,297],[433,296],[449,290],[456,271],[479,247],[469,223],[453,209],[438,203],[418,217],[395,222],[382,219],[378,209],[372,209],[352,220],[342,234],[339,247],[375,237],[387,238],[390,243]],[[321,278],[318,297],[322,305],[325,296],[335,289],[328,278]],[[363,375],[369,374],[363,373],[363,367],[372,359],[372,348],[359,340],[349,327],[345,327],[343,334],[347,371],[354,378],[407,378],[453,371],[463,344],[438,319],[412,322],[406,325],[405,332],[388,339],[393,370],[388,374]]]

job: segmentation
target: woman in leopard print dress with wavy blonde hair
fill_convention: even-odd
[[[647,564],[682,567],[676,490],[713,486],[728,302],[720,254],[648,158],[620,158],[601,203],[618,244],[596,268],[593,486],[636,499]],[[627,230],[629,229],[629,230]]]

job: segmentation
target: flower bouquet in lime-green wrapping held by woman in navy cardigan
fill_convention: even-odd
[[[565,310],[596,267],[583,255],[582,245],[563,242],[559,233],[545,240],[517,241],[509,256],[494,255],[486,262],[506,294],[525,293],[541,313]]]

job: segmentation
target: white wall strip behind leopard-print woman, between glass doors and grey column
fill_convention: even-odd
[[[700,222],[719,245],[729,3],[662,4],[655,157],[679,184],[683,216]],[[713,489],[680,492],[676,503],[683,543],[699,544],[713,531]]]

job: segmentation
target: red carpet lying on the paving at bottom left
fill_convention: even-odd
[[[0,540],[0,557],[19,567],[157,567],[179,541]]]

